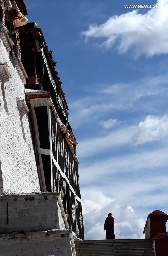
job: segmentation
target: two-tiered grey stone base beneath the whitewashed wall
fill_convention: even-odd
[[[76,256],[59,200],[58,192],[1,194],[0,256]]]

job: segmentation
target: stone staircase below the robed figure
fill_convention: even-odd
[[[75,241],[76,256],[154,256],[152,239]]]

